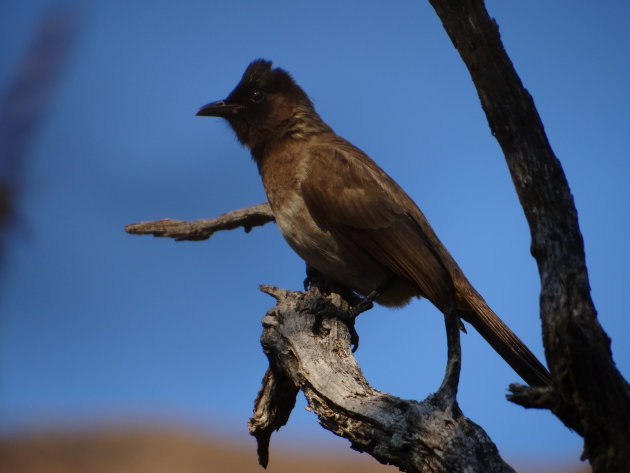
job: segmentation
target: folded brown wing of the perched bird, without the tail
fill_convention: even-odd
[[[452,307],[453,282],[430,241],[433,235],[413,218],[411,198],[364,153],[347,143],[314,148],[302,192],[320,227],[415,283],[441,310]]]

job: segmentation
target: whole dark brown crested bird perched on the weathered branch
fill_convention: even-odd
[[[426,297],[456,311],[527,383],[549,384],[407,193],[324,123],[286,71],[256,60],[225,100],[197,115],[225,118],[251,150],[276,223],[308,265],[385,306]]]

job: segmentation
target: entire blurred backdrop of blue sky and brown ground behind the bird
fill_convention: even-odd
[[[630,4],[486,5],[564,166],[592,295],[627,378]],[[194,116],[257,57],[290,71],[320,115],[409,192],[490,305],[544,357],[529,230],[469,75],[428,2],[5,0],[6,471],[55,462],[84,472],[258,471],[246,424],[267,366],[260,320],[273,305],[258,285],[299,289],[303,263],[272,224],[207,242],[124,232],[128,223],[209,218],[265,200],[227,125]],[[429,303],[371,310],[358,331],[356,355],[375,387],[409,399],[437,389],[446,344]],[[519,379],[474,331],[463,350],[461,407],[504,458],[519,471],[582,471],[580,438],[548,412],[505,400]],[[300,397],[273,437],[270,471],[304,458],[329,459],[330,471],[394,471],[350,451],[305,407]]]

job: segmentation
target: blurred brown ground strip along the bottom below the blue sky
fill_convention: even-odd
[[[586,473],[584,468],[549,465],[526,459],[513,465],[522,473]],[[166,427],[85,428],[31,433],[0,439],[2,473],[262,473],[251,445],[238,445],[206,434]],[[271,451],[270,473],[394,473],[367,454],[326,451]]]

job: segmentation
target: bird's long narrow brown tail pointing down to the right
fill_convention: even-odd
[[[503,323],[479,293],[467,284],[458,291],[458,302],[469,309],[459,309],[459,316],[470,323],[530,386],[547,386],[551,376],[547,368],[525,344]],[[459,304],[458,304],[459,305]]]

